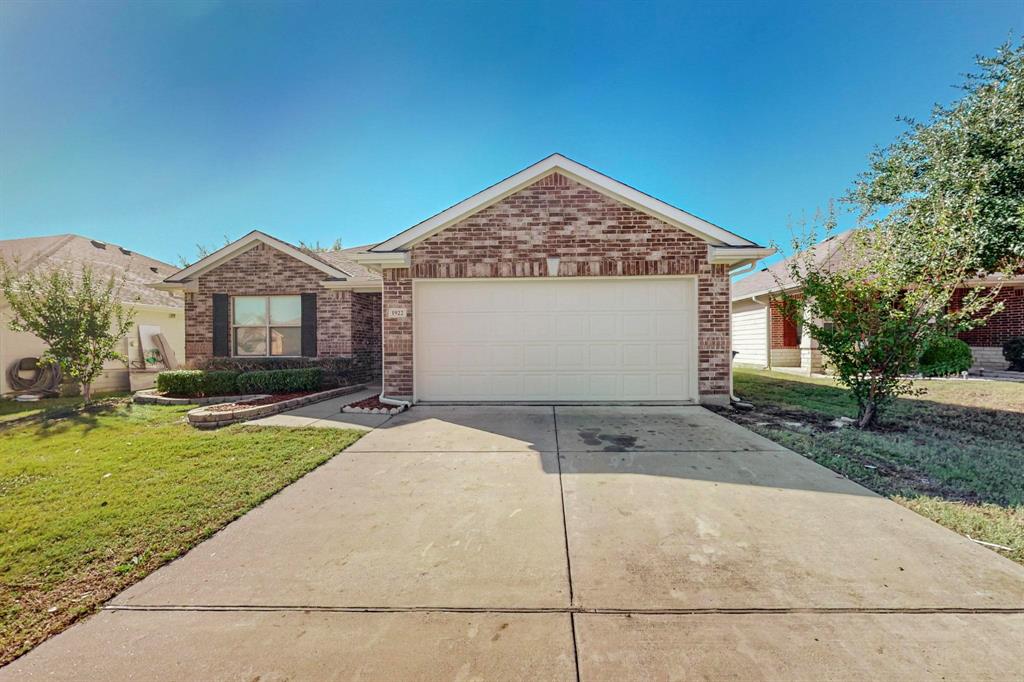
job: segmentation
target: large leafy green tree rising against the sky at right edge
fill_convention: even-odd
[[[863,218],[902,239],[944,242],[966,271],[1013,271],[1024,263],[1024,43],[977,59],[965,95],[876,151],[849,195]]]

